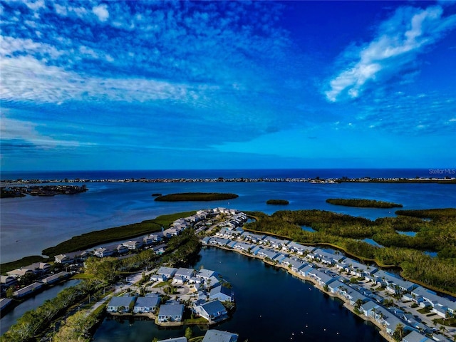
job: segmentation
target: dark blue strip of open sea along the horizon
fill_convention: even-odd
[[[446,174],[445,174],[446,175]],[[254,170],[100,170],[2,172],[2,180],[127,179],[127,178],[333,178],[333,177],[445,177],[430,169],[254,169]],[[454,175],[450,175],[454,176]]]

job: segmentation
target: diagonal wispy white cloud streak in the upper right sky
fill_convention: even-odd
[[[456,27],[456,15],[443,16],[441,6],[400,7],[363,46],[351,46],[342,60],[351,64],[329,81],[327,100],[358,98],[371,87],[410,72],[420,53]]]

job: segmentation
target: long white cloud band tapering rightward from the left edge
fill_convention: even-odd
[[[207,87],[146,78],[98,78],[48,66],[31,56],[1,58],[4,100],[63,103],[69,100],[113,101],[173,100],[187,102]]]

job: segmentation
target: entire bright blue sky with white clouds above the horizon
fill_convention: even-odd
[[[456,167],[455,1],[2,1],[1,169]]]

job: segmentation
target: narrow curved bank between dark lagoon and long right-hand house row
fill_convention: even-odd
[[[300,280],[303,280],[303,281],[309,281],[309,283],[313,284],[314,287],[316,289],[318,289],[319,291],[321,291],[322,294],[327,294],[328,296],[331,296],[333,298],[340,299],[343,302],[343,306],[348,311],[351,311],[352,314],[354,314],[354,315],[358,316],[359,318],[363,319],[363,321],[368,321],[368,322],[373,323],[373,325],[376,326],[379,329],[380,336],[385,338],[386,341],[395,342],[393,336],[388,335],[388,333],[386,333],[386,331],[385,331],[385,328],[380,323],[375,321],[373,318],[364,316],[364,314],[357,314],[354,311],[355,307],[351,306],[350,303],[348,303],[348,301],[346,301],[346,299],[344,299],[342,296],[339,296],[338,294],[333,294],[331,292],[324,291],[323,287],[321,287],[320,285],[318,285],[315,282],[315,279],[312,279],[311,277],[307,277],[307,276],[302,276],[301,274],[298,274],[298,273],[292,271],[291,269],[289,269],[288,267],[285,267],[284,265],[274,264],[274,263],[272,263],[270,261],[267,261],[265,259],[262,259],[260,257],[255,256],[255,255],[239,251],[238,249],[229,249],[227,247],[222,247],[222,246],[219,246],[219,245],[210,245],[210,246],[206,246],[206,247],[215,247],[215,248],[219,248],[219,249],[224,249],[224,250],[229,251],[229,252],[237,252],[239,254],[244,255],[245,257],[250,257],[252,259],[258,259],[260,261],[263,261],[264,264],[268,264],[269,266],[274,266],[274,267],[277,267],[277,268],[280,268],[280,269],[284,269],[285,271],[287,271],[289,274],[291,274],[292,276],[296,277],[297,279],[300,279]]]

